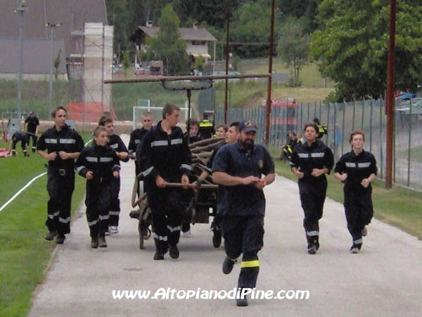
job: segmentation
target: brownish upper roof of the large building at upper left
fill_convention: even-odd
[[[20,14],[15,13],[20,1],[0,1],[0,37],[19,37]],[[61,23],[55,27],[56,38],[65,42],[66,54],[72,54],[72,31],[82,30],[84,22],[107,24],[105,0],[30,0],[23,13],[23,37],[48,39],[51,27],[46,23]]]

